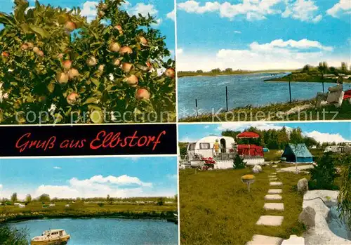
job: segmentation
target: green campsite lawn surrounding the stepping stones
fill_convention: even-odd
[[[307,174],[277,173],[283,180],[284,222],[280,227],[258,227],[262,215],[279,215],[265,211],[264,197],[270,189],[268,174],[274,168],[264,167],[256,174],[251,192],[241,183],[241,176],[251,173],[249,168],[197,172],[180,170],[180,242],[181,244],[246,244],[253,234],[289,238],[301,235],[298,223],[303,196],[296,191],[300,178]]]

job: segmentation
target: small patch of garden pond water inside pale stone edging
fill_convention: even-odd
[[[337,206],[331,206],[327,220],[329,229],[338,237],[351,240],[351,231],[346,223],[340,220],[339,214]]]

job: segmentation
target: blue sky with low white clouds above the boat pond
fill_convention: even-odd
[[[0,159],[0,197],[172,197],[176,157]]]

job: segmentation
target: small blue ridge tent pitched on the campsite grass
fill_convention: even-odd
[[[288,162],[311,163],[313,156],[305,144],[288,144],[285,147],[282,157]]]

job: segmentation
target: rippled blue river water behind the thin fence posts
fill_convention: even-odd
[[[267,105],[271,102],[288,102],[289,83],[264,81],[271,77],[282,77],[289,73],[258,73],[243,75],[225,75],[217,77],[180,77],[178,79],[178,114],[179,118],[194,116],[195,99],[198,102],[199,114],[225,110],[225,86],[228,89],[228,107],[246,105]],[[336,84],[325,83],[324,90]],[[344,84],[344,90],[351,89],[350,83]],[[322,83],[292,82],[291,97],[293,100],[314,98],[322,92]],[[187,110],[186,113],[184,110]]]

